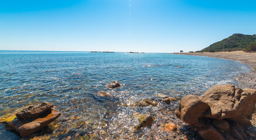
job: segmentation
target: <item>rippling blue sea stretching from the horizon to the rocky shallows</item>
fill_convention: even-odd
[[[249,71],[235,61],[188,55],[0,51],[0,115],[48,101],[62,115],[45,128],[47,133],[38,132],[35,136],[62,139],[75,138],[77,134],[89,138],[94,134],[95,139],[161,139],[172,135],[161,132],[159,124],[170,119],[175,122],[176,117],[170,116],[178,101],[157,107],[123,104],[154,98],[155,93],[178,100],[190,94],[201,95],[213,85],[237,85],[235,79]],[[107,83],[116,80],[122,83],[121,88],[106,89]],[[112,96],[99,97],[100,91]],[[150,113],[155,118],[152,127],[133,133],[130,128],[134,112]],[[75,120],[61,121],[72,117]],[[4,125],[0,125],[0,138],[21,139]]]

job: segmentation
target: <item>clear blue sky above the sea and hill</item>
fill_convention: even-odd
[[[0,50],[197,51],[256,34],[256,1],[0,0]]]

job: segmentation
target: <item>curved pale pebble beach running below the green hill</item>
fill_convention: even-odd
[[[250,74],[242,76],[238,82],[241,83],[238,87],[256,89],[256,53],[245,53],[244,51],[233,52],[217,52],[217,53],[177,53],[178,55],[196,55],[203,57],[221,58],[225,60],[238,61],[250,67]],[[252,125],[256,127],[256,113],[252,114]]]

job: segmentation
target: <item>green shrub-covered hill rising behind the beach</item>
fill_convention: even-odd
[[[232,36],[211,44],[201,52],[218,52],[218,51],[248,51],[250,44],[256,43],[256,34],[233,34]]]

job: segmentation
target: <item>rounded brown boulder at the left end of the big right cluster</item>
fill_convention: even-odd
[[[175,111],[176,116],[182,121],[196,127],[203,127],[204,124],[200,122],[203,118],[203,113],[209,108],[206,103],[203,103],[197,96],[188,95],[183,97],[180,101],[178,110]]]

